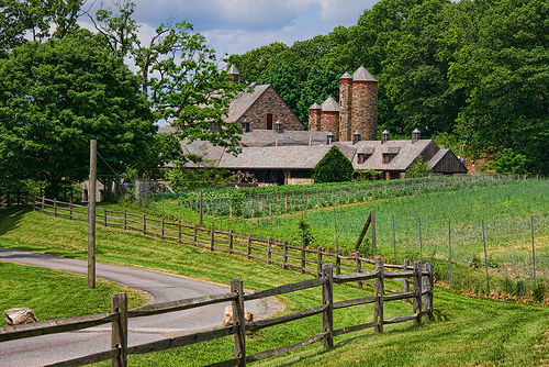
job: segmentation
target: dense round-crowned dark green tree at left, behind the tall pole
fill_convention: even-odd
[[[63,184],[88,177],[89,141],[99,173],[145,159],[157,127],[139,80],[80,31],[29,42],[0,59],[0,171]]]

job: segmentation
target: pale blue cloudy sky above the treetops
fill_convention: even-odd
[[[142,24],[139,38],[150,40],[154,30],[170,20],[186,20],[205,36],[217,56],[243,54],[272,42],[291,46],[338,25],[357,24],[365,9],[378,0],[132,0],[134,19]],[[91,0],[88,0],[91,4]],[[100,1],[94,3],[98,8]],[[115,10],[113,0],[103,8]],[[92,9],[92,12],[94,10]],[[82,19],[81,22],[86,23]]]

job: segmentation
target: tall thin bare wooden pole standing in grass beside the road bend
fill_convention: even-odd
[[[98,141],[90,141],[90,187],[88,190],[88,289],[96,288],[96,182],[98,180]]]

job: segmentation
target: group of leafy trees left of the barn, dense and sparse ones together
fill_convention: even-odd
[[[227,84],[205,38],[181,21],[142,43],[135,4],[114,4],[91,14],[86,0],[0,0],[0,188],[56,196],[88,177],[90,140],[100,176],[152,176],[193,158],[182,156],[182,138],[237,149],[239,127],[223,116],[244,87]],[[157,134],[159,120],[179,133]]]

